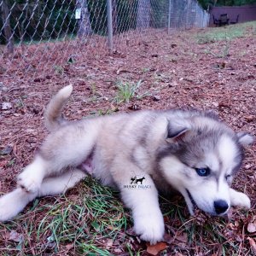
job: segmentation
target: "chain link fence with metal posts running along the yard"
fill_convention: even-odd
[[[58,72],[91,51],[131,51],[132,40],[209,21],[194,0],[2,0],[0,10],[4,76]]]

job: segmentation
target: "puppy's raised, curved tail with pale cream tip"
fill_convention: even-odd
[[[55,131],[60,125],[65,125],[67,121],[62,118],[61,112],[69,96],[71,95],[73,86],[67,85],[57,92],[50,100],[45,112],[45,126],[48,131]]]

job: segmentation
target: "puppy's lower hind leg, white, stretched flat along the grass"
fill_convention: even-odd
[[[86,174],[79,169],[74,169],[63,173],[58,177],[47,177],[41,184],[41,188],[36,193],[26,192],[17,188],[14,191],[3,195],[0,198],[0,221],[14,218],[26,205],[38,196],[59,195],[65,193],[76,183],[84,178]]]

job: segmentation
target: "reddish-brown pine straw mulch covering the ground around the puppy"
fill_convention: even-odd
[[[22,69],[17,71],[15,66],[11,67],[9,72],[3,74],[0,84],[1,103],[9,102],[0,113],[1,193],[15,188],[15,176],[32,160],[43,142],[47,134],[44,129],[44,106],[56,90],[67,84],[74,86],[73,96],[65,110],[68,119],[136,109],[211,109],[235,131],[248,131],[255,136],[256,44],[253,32],[248,30],[247,36],[232,39],[228,43],[219,41],[198,44],[197,37],[201,33],[198,30],[170,35],[158,32],[131,41],[128,47],[120,46],[113,55],[106,54],[102,48],[92,48],[85,55],[81,53],[73,56],[71,63],[57,63],[58,68],[53,68],[48,61],[44,72],[30,70],[23,73]],[[67,55],[73,55],[73,52],[67,52]],[[19,58],[19,55],[15,58]],[[41,59],[42,56],[38,55],[38,60]],[[119,104],[114,101],[117,82],[137,83],[139,80],[142,80],[142,85],[137,96],[141,98],[134,97],[130,102]],[[146,96],[143,96],[145,93]],[[250,196],[252,209],[247,212],[232,210],[227,218],[210,218],[201,212],[195,218],[189,218],[182,205],[179,210],[182,213],[172,212],[172,218],[171,215],[165,217],[166,229],[174,237],[167,242],[164,250],[166,255],[255,253],[255,151],[255,143],[246,148],[246,160],[233,185]],[[73,199],[78,194],[77,189],[72,189],[67,197]],[[44,202],[55,203],[48,198]],[[172,204],[176,203],[174,199]],[[166,207],[164,202],[163,205]],[[32,212],[18,217],[21,220],[24,218],[24,222],[20,221],[17,227],[18,234],[28,236],[26,221],[36,224],[43,217]],[[186,224],[189,223],[193,223],[189,228],[193,225],[195,229],[191,236],[185,235],[188,233],[186,229],[189,229]],[[38,241],[36,232],[32,233],[33,236],[26,244],[20,244],[10,239],[11,230],[8,225],[0,224],[0,227],[0,252],[5,255],[42,254],[42,248],[38,249],[40,239]],[[216,241],[212,232],[222,238],[221,242]],[[125,233],[124,236],[124,244],[119,243],[119,251],[111,247],[108,247],[108,251],[116,255],[129,255],[128,243],[131,251],[147,255],[144,243],[140,244],[136,238]],[[43,250],[43,254],[76,255],[75,248],[67,246],[63,243],[58,250],[53,248],[48,254]]]

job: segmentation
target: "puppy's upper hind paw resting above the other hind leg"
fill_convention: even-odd
[[[17,183],[20,188],[26,190],[26,192],[36,193],[41,187],[42,180],[36,176],[36,173],[25,170],[18,176]]]

